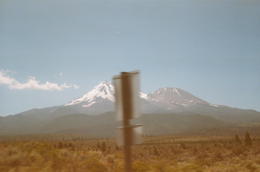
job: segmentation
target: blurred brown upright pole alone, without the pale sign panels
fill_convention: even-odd
[[[126,172],[131,172],[131,128],[130,120],[132,117],[132,103],[131,100],[131,83],[128,72],[121,72],[122,76],[122,103],[123,103],[123,127],[124,127],[124,149],[125,149],[125,163]]]

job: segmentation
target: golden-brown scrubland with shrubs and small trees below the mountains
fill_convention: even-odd
[[[260,171],[260,136],[144,136],[132,146],[133,171]],[[27,138],[27,139],[25,139]],[[0,171],[124,171],[115,138],[2,137]],[[245,140],[246,139],[246,140]],[[26,141],[25,141],[26,140]],[[246,141],[246,142],[245,142]],[[247,143],[247,144],[246,144]],[[251,144],[249,144],[251,143]],[[251,146],[250,146],[251,145]]]

